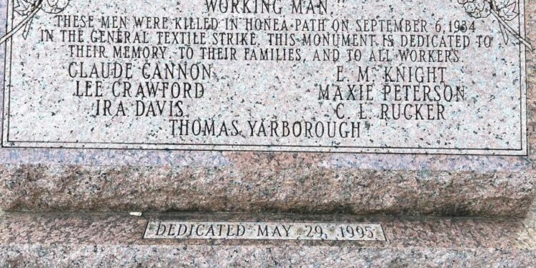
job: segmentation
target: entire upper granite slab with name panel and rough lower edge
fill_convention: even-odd
[[[0,209],[521,216],[534,199],[532,2],[0,3]]]

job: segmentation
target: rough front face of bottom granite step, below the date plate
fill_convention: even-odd
[[[3,267],[534,267],[533,250],[405,247],[0,246]]]

